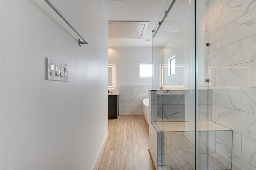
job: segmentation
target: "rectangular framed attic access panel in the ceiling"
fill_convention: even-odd
[[[108,38],[143,38],[149,22],[109,21]]]

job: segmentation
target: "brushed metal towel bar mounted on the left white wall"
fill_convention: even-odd
[[[89,42],[87,42],[83,36],[76,30],[76,28],[74,28],[74,26],[72,26],[72,24],[63,16],[63,14],[56,8],[56,6],[54,6],[54,4],[52,4],[52,2],[50,0],[44,0],[59,16],[60,18],[62,18],[62,20],[64,20],[68,26],[70,26],[70,28],[72,28],[72,30],[74,30],[74,32],[81,38],[78,40],[78,44],[80,47],[82,47],[82,45],[88,44]]]

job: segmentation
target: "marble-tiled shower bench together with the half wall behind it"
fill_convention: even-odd
[[[158,166],[194,169],[189,91],[150,90],[150,143]],[[231,169],[232,129],[212,121],[212,90],[198,90],[198,170]],[[193,120],[193,119],[192,119]]]

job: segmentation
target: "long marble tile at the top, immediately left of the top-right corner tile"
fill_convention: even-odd
[[[207,20],[207,32],[212,34],[242,16],[242,0],[232,0]]]

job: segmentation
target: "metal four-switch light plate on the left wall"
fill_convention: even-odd
[[[54,65],[56,68],[62,68],[62,75],[58,71],[56,71],[56,74],[54,73],[54,75],[52,75],[52,65]],[[46,80],[68,81],[68,65],[46,57]]]

